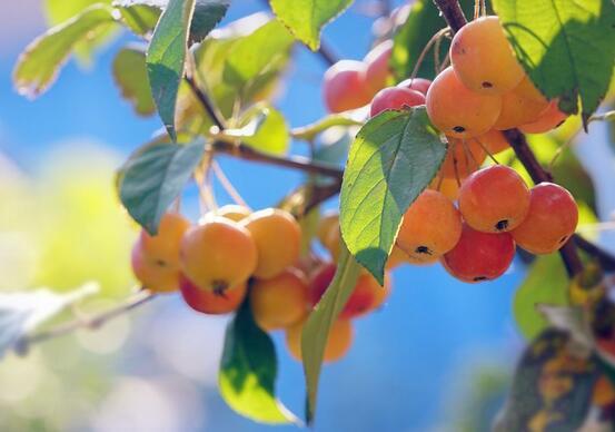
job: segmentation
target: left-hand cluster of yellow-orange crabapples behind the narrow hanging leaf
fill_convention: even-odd
[[[331,262],[301,265],[300,244],[301,228],[291,214],[228,205],[197,225],[180,214],[165,214],[156,235],[141,230],[131,264],[143,288],[180,291],[191,308],[205,314],[231,313],[249,297],[256,323],[268,332],[285,331],[290,354],[300,360],[304,322],[336,272]],[[359,276],[329,333],[325,361],[348,351],[351,320],[379,307],[388,291],[388,281],[383,288],[367,273]]]

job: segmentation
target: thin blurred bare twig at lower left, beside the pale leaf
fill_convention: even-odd
[[[121,303],[97,315],[92,315],[89,317],[82,316],[77,320],[69,321],[63,324],[59,324],[56,327],[36,333],[30,336],[26,336],[19,342],[18,345],[20,346],[20,348],[28,348],[28,346],[32,344],[49,341],[51,338],[56,338],[59,336],[65,336],[79,328],[90,328],[90,330],[99,328],[106,323],[108,323],[109,321],[148,303],[155,297],[156,297],[156,294],[149,291],[140,291],[137,294],[135,294],[132,297],[129,297],[125,303]]]

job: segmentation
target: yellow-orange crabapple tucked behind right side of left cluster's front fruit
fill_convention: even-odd
[[[258,249],[256,277],[271,278],[299,258],[301,228],[290,213],[268,208],[252,213],[241,225],[251,233]]]

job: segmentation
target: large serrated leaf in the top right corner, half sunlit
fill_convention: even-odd
[[[612,0],[494,0],[532,81],[559,108],[587,120],[606,95],[615,62]]]

